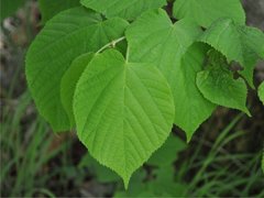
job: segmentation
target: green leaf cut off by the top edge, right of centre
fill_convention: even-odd
[[[208,28],[219,18],[230,18],[245,24],[245,13],[240,0],[177,0],[173,14],[176,19],[188,18]]]

